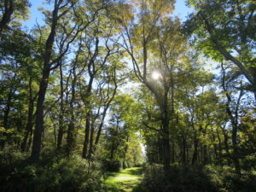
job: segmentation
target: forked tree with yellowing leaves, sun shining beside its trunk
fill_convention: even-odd
[[[137,2],[139,3],[139,2]],[[170,132],[169,132],[169,119],[170,113],[168,111],[167,96],[170,90],[169,81],[165,74],[162,75],[163,90],[159,90],[158,87],[150,80],[149,71],[149,53],[150,44],[153,43],[158,33],[160,20],[165,20],[166,15],[172,13],[173,1],[147,1],[143,0],[137,6],[137,20],[138,23],[131,21],[127,18],[127,13],[123,12],[123,15],[119,18],[122,20],[122,26],[124,32],[122,37],[124,40],[124,49],[131,56],[131,61],[134,69],[134,73],[137,79],[145,84],[154,96],[160,107],[161,112],[161,124],[162,124],[162,139],[163,139],[163,165],[165,170],[168,170],[170,166]],[[123,6],[126,5],[124,4]],[[135,11],[135,10],[134,10]],[[128,15],[129,16],[129,15]],[[165,69],[163,69],[165,71]],[[164,91],[164,92],[163,92]]]

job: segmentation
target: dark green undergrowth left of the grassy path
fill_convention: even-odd
[[[3,192],[102,191],[99,164],[80,157],[47,160],[43,155],[37,164],[31,164],[22,154],[0,154],[0,189]]]

